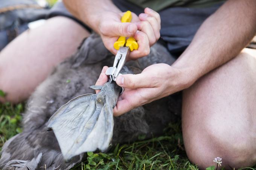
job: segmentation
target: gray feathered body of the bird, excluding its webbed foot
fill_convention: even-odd
[[[11,165],[15,160],[19,160],[20,163],[27,161],[33,166],[37,164],[35,169],[46,167],[47,170],[67,170],[82,160],[83,154],[80,154],[66,163],[53,131],[47,131],[47,126],[48,120],[53,113],[70,99],[79,95],[94,93],[94,90],[87,87],[95,84],[103,66],[111,66],[113,64],[113,55],[105,49],[99,36],[93,36],[84,41],[75,55],[59,64],[52,75],[41,83],[31,95],[27,101],[23,116],[24,130],[9,139],[3,146],[0,169],[14,169],[16,167],[6,166]],[[99,45],[96,50],[90,51],[88,49],[94,48],[93,45],[90,45],[91,43]],[[153,50],[154,48],[155,50]],[[151,58],[161,59],[162,56],[167,56],[164,49],[161,45],[154,45],[151,48],[151,54],[148,56],[149,61],[147,61],[147,64],[151,65]],[[90,52],[88,53],[88,51]],[[99,52],[102,52],[103,55],[99,55]],[[170,55],[168,57],[162,60],[171,64],[173,59]],[[93,61],[90,62],[89,58]],[[158,63],[163,62],[158,60]],[[129,65],[135,66],[140,70],[146,67],[145,65],[140,65],[140,61],[129,62]],[[111,99],[108,98],[107,101],[111,101]],[[111,104],[113,104],[113,101],[108,105]],[[108,110],[107,112],[111,112],[109,110],[113,109],[112,106],[104,108]],[[172,113],[180,112],[179,109],[180,101],[177,101],[174,96],[169,96],[135,108],[122,116],[114,117],[112,143],[134,141],[142,134],[147,137],[152,134],[154,136],[161,134],[163,128],[174,119],[174,114]],[[101,115],[101,112],[99,114]],[[99,116],[99,119],[108,119],[112,115],[108,116]],[[101,124],[96,126],[102,130],[104,128],[108,129],[109,125]],[[66,138],[66,140],[69,140],[68,136]],[[98,142],[97,139],[95,139],[95,142]]]

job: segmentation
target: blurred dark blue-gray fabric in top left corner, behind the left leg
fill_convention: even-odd
[[[48,9],[35,0],[0,0],[0,51],[28,29],[28,23],[46,18]]]

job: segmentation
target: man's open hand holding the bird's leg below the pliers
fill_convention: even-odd
[[[102,69],[96,85],[103,85],[107,82],[108,77],[105,75],[107,69],[107,66]],[[119,116],[135,107],[187,88],[194,81],[190,78],[188,70],[175,69],[168,64],[161,63],[153,64],[137,75],[120,75],[116,83],[125,88],[114,108],[114,116]]]

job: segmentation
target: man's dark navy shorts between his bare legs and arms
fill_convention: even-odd
[[[139,15],[143,13],[141,7],[125,0],[113,0],[113,3],[123,12],[131,10]],[[203,21],[214,13],[222,3],[207,8],[170,7],[159,12],[161,16],[161,39],[169,52],[178,57],[192,41],[196,31]],[[63,3],[56,3],[50,10],[48,18],[53,16],[66,16],[74,19],[85,29],[91,29],[73,17]]]

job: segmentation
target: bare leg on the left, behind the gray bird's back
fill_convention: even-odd
[[[72,19],[56,16],[14,39],[0,53],[0,89],[6,100],[17,103],[29,97],[87,36],[89,32]]]

